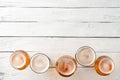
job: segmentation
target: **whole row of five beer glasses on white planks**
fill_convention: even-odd
[[[26,51],[17,50],[11,55],[10,63],[17,70],[24,70],[30,64],[32,71],[41,74],[49,69],[50,58],[43,53],[36,53],[30,58]],[[75,58],[69,55],[60,56],[55,68],[61,76],[69,77],[76,72],[78,65],[93,66],[101,76],[107,76],[114,70],[114,62],[110,57],[104,55],[96,58],[96,52],[89,46],[80,47],[75,53]]]

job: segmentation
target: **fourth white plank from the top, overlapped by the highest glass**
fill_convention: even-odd
[[[61,54],[76,53],[76,50],[81,46],[91,46],[98,52],[120,52],[120,38],[0,38],[0,51],[23,49],[26,51]]]

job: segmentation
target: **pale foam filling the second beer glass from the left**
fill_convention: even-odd
[[[49,68],[49,59],[44,54],[35,54],[31,59],[31,69],[36,73],[43,73]]]

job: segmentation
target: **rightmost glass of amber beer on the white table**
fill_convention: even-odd
[[[108,56],[99,57],[94,64],[95,70],[102,76],[107,76],[114,70],[114,62]]]

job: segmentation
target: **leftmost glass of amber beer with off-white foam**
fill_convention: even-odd
[[[30,57],[27,52],[17,50],[11,55],[10,64],[17,70],[23,70],[30,64]]]

